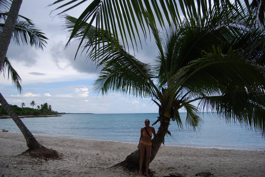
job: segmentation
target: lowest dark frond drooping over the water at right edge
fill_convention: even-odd
[[[198,105],[203,109],[217,114],[227,122],[238,122],[246,128],[255,129],[263,137],[265,134],[265,95],[259,97],[252,93],[224,93],[222,96],[205,97]]]

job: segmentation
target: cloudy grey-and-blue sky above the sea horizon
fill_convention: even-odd
[[[62,30],[62,22],[57,13],[50,12],[56,6],[47,7],[55,0],[23,0],[19,14],[31,19],[42,29],[47,40],[44,51],[29,46],[10,44],[7,57],[22,79],[23,92],[20,94],[12,81],[0,76],[0,92],[12,105],[20,106],[22,102],[30,107],[33,100],[37,105],[47,102],[54,111],[68,113],[154,113],[157,106],[149,99],[122,96],[119,93],[97,96],[91,89],[97,72],[86,58],[78,55],[74,60],[77,44],[71,43],[64,50],[67,35]],[[79,17],[84,6],[67,12]],[[143,49],[135,53],[138,60],[151,63],[157,55],[154,42],[146,42]]]

